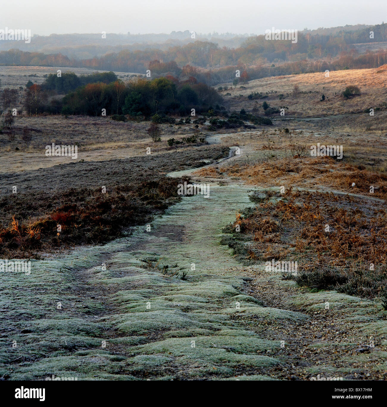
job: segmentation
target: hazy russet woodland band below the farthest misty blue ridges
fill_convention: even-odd
[[[373,38],[370,38],[372,31]],[[197,68],[219,69],[226,66],[262,66],[266,63],[283,63],[301,59],[332,58],[354,50],[357,43],[387,41],[387,24],[378,24],[356,31],[339,31],[324,35],[298,33],[297,43],[268,41],[264,35],[251,36],[240,47],[220,47],[210,41],[193,41],[167,49],[121,50],[91,59],[73,59],[62,54],[45,55],[37,52],[8,50],[0,52],[0,64],[68,66],[112,70],[116,72],[145,73],[150,61],[174,61],[177,67],[192,65]],[[353,52],[353,51],[352,51]],[[174,72],[176,67],[165,72]],[[213,83],[211,83],[213,84]]]

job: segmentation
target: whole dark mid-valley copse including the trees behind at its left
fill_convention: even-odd
[[[86,84],[75,88],[82,82]],[[57,96],[61,93],[66,93],[63,98]],[[1,92],[4,111],[15,104],[17,97],[17,90],[4,89]],[[35,116],[43,112],[145,118],[154,114],[186,116],[191,114],[192,109],[198,114],[207,112],[211,107],[220,109],[222,102],[218,91],[195,79],[179,81],[168,76],[136,78],[124,83],[113,72],[83,77],[74,72],[65,72],[61,77],[52,74],[42,85],[29,82],[23,97],[24,111]]]

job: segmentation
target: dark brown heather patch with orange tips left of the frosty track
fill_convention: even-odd
[[[0,256],[39,258],[40,252],[59,247],[106,243],[129,226],[151,221],[154,214],[178,201],[179,182],[182,180],[160,177],[108,188],[106,193],[101,188],[71,188],[54,195],[20,194],[12,201],[3,197],[0,207],[6,217],[15,215],[8,226],[0,227]],[[24,208],[27,200],[29,210]]]

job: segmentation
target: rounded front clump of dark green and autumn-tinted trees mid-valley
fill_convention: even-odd
[[[63,114],[101,116],[128,114],[149,117],[154,114],[178,114],[180,116],[207,111],[220,105],[222,96],[204,83],[180,82],[161,77],[152,80],[136,79],[125,84],[89,83],[68,93],[63,98]],[[102,109],[105,109],[103,111]]]

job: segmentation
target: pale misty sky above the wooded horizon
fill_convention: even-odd
[[[52,33],[254,33],[387,21],[386,0],[1,0],[0,28]]]

